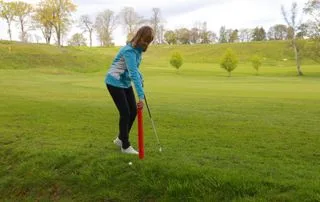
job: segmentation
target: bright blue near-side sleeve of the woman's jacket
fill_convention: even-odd
[[[138,93],[138,97],[139,99],[144,99],[144,90],[142,86],[141,76],[138,70],[136,53],[134,52],[134,50],[127,50],[123,53],[123,57],[126,61],[126,65],[129,71],[129,76],[133,81],[136,92]]]

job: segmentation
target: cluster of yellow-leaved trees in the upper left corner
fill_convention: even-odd
[[[20,28],[19,38],[28,41],[28,32],[41,30],[46,43],[50,43],[55,35],[57,44],[72,24],[71,13],[77,6],[70,0],[43,0],[36,6],[23,2],[4,2],[0,0],[0,17],[8,26],[8,35],[12,40],[12,24],[18,22]],[[38,40],[38,39],[37,39]]]

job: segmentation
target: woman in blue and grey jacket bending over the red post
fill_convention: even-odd
[[[113,143],[127,154],[138,154],[130,145],[129,133],[137,116],[137,107],[143,108],[144,103],[143,77],[139,72],[141,55],[147,51],[153,38],[151,27],[141,27],[133,39],[120,49],[105,78],[108,91],[120,114],[119,135]],[[138,104],[131,82],[139,97]]]

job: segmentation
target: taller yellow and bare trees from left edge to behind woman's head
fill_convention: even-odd
[[[76,33],[69,41],[70,45],[86,45],[85,33],[88,33],[89,44],[95,32],[101,46],[112,45],[112,33],[117,26],[122,25],[127,37],[131,38],[142,25],[150,25],[155,31],[154,43],[164,43],[164,25],[159,8],[152,8],[149,19],[138,14],[132,7],[124,7],[116,14],[110,9],[97,13],[95,17],[82,15],[77,22],[71,14],[76,12],[77,6],[72,0],[42,0],[36,5],[23,1],[4,2],[0,0],[0,18],[5,20],[8,27],[9,39],[12,40],[12,25],[18,23],[20,40],[28,42],[28,32],[40,30],[46,43],[50,44],[54,37],[57,45],[61,45],[62,37],[67,34],[72,25],[77,24],[82,33]],[[37,41],[40,37],[37,37]]]

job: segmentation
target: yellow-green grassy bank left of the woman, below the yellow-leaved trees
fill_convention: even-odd
[[[116,48],[58,48],[44,44],[0,42],[1,69],[63,68],[95,72],[106,67]],[[109,54],[108,54],[109,53]]]

